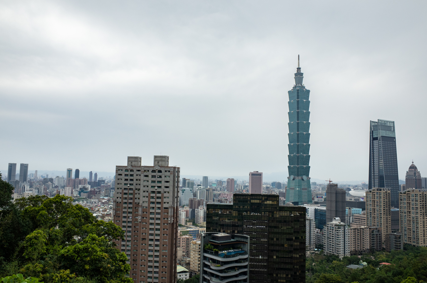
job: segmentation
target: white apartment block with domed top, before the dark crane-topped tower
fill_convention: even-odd
[[[324,232],[324,251],[326,255],[336,255],[340,259],[350,256],[349,227],[341,222],[339,217],[334,217],[332,222],[326,223]]]

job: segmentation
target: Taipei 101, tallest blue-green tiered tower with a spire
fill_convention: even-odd
[[[288,183],[286,202],[298,202],[299,205],[312,203],[310,186],[310,91],[302,80],[304,74],[299,67],[295,73],[295,85],[289,94],[289,155]]]

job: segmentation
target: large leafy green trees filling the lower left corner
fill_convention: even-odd
[[[44,283],[132,283],[126,255],[114,248],[120,227],[99,221],[72,198],[35,196],[12,202],[0,174],[0,277],[23,274]],[[16,276],[16,275],[15,275]]]

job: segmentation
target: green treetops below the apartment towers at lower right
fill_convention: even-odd
[[[346,268],[363,260],[368,266]],[[387,262],[390,265],[380,263]],[[404,251],[376,252],[358,256],[315,254],[306,261],[307,283],[418,283],[427,281],[427,248],[405,245]],[[409,277],[409,278],[408,278]]]

